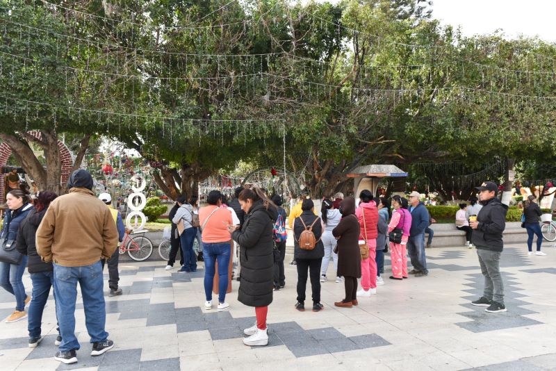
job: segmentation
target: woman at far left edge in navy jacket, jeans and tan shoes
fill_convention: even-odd
[[[22,190],[10,190],[6,195],[8,210],[4,215],[2,231],[0,233],[0,249],[15,247],[15,240],[19,231],[19,224],[27,217],[33,208],[29,204],[28,195]],[[0,261],[0,286],[10,294],[15,295],[15,311],[6,319],[6,323],[23,320],[27,317],[25,306],[31,297],[25,293],[23,286],[23,273],[27,265],[27,256],[18,256],[18,261]]]

